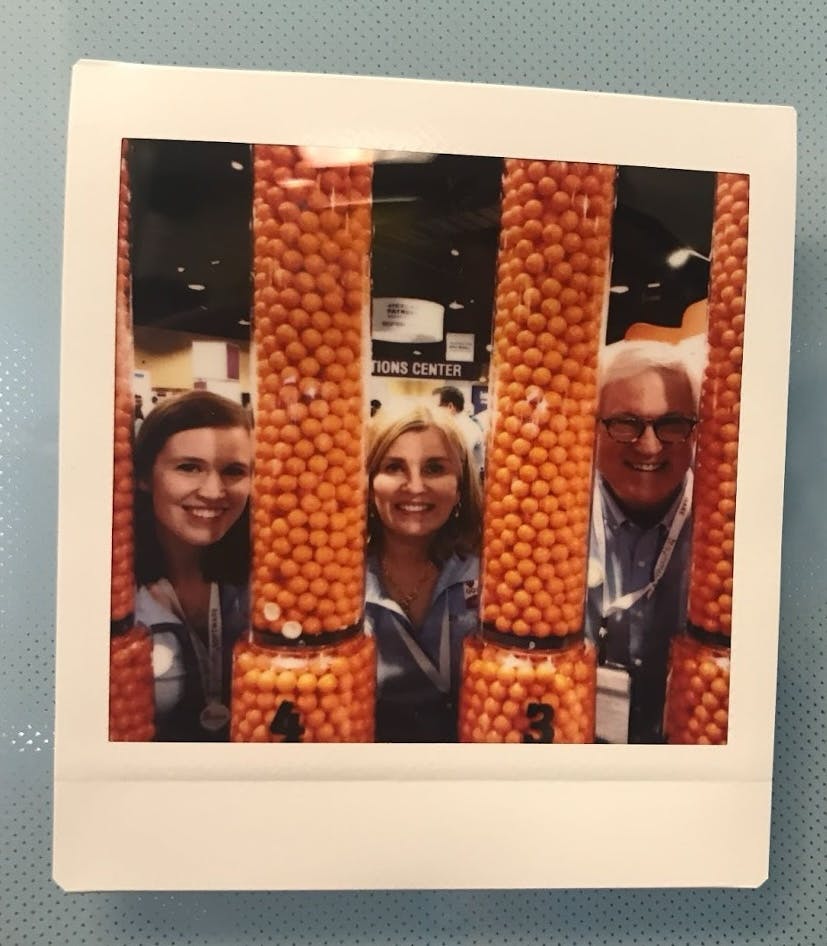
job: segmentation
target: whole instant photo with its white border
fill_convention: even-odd
[[[56,881],[761,884],[794,195],[789,108],[78,63]]]

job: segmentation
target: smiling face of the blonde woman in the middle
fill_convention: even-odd
[[[459,501],[460,465],[434,427],[409,430],[388,447],[371,482],[385,531],[407,539],[430,539]]]

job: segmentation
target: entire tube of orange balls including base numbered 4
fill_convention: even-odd
[[[235,742],[370,742],[364,602],[369,162],[253,149],[256,455],[252,625]]]

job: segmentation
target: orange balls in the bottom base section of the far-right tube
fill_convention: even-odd
[[[672,642],[664,732],[674,745],[722,746],[729,725],[729,648]]]

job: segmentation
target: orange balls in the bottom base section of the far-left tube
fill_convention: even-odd
[[[134,627],[109,642],[109,739],[147,742],[154,735],[152,638]]]

